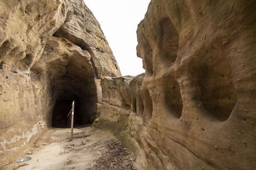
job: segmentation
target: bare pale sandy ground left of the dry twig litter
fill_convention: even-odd
[[[19,164],[12,163],[2,169],[91,169],[99,162],[102,153],[109,150],[109,144],[106,143],[113,140],[110,134],[92,128],[74,129],[74,140],[69,141],[69,137],[70,129],[50,129],[34,143],[33,148],[26,151],[24,156],[31,157],[31,160]]]

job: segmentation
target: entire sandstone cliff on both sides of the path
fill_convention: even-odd
[[[120,77],[83,1],[0,1],[0,162],[75,100],[82,123],[99,116],[138,169],[255,169],[255,7],[152,0],[137,31],[146,72]]]

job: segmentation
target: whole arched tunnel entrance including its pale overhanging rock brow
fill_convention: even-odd
[[[35,73],[50,77],[49,93],[46,94],[48,95],[46,106],[49,108],[45,108],[47,126],[68,128],[67,115],[73,100],[75,101],[74,125],[91,124],[97,113],[96,82],[99,81],[92,61],[94,54],[90,54],[91,49],[83,40],[65,40],[63,43],[61,41],[63,37],[58,38],[58,36],[61,37],[54,34],[45,46],[42,61],[33,66]],[[53,52],[52,48],[56,48],[57,52]],[[44,70],[47,71],[43,72]]]

